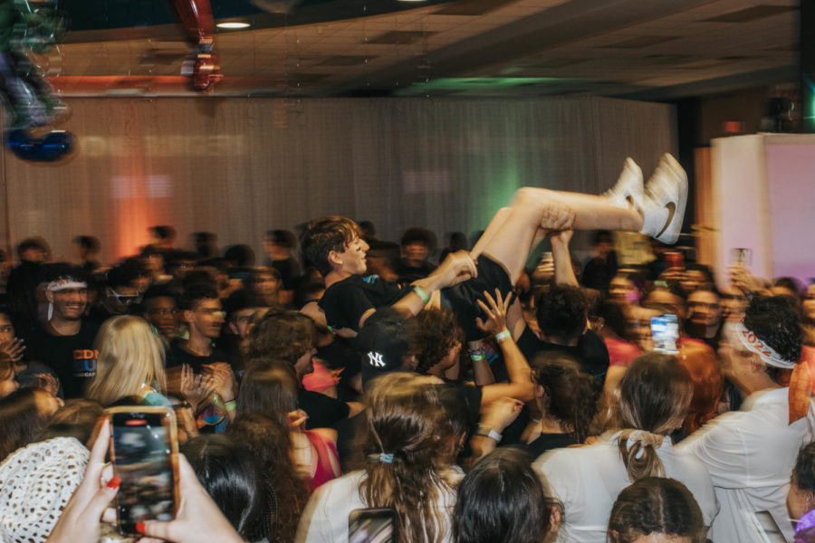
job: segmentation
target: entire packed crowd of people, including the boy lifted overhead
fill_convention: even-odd
[[[629,160],[606,195],[519,190],[472,245],[333,216],[268,232],[261,265],[169,226],[110,267],[92,236],[74,263],[24,240],[0,539],[815,541],[815,286],[677,260],[686,193],[671,157],[647,185]],[[654,260],[620,266],[612,230]],[[138,534],[111,509],[113,406],[177,420],[175,519]]]

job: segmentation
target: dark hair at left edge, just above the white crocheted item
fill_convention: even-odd
[[[37,409],[37,394],[33,388],[15,390],[0,399],[0,462],[28,443],[45,426],[46,417]]]

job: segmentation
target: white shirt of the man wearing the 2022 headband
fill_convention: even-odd
[[[804,443],[813,439],[815,415],[789,423],[789,388],[749,395],[741,411],[716,417],[676,449],[705,464],[722,506],[708,534],[715,543],[762,538],[753,513],[770,511],[788,541],[793,538],[786,498],[790,474]]]

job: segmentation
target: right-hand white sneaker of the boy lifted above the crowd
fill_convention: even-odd
[[[676,243],[685,220],[686,204],[687,175],[676,158],[666,153],[645,187],[640,233],[662,243]]]

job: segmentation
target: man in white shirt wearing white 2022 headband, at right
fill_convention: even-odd
[[[769,511],[784,538],[793,538],[785,506],[790,472],[801,445],[815,437],[801,338],[796,310],[783,297],[753,298],[744,319],[724,332],[720,354],[746,396],[742,410],[716,417],[677,445],[710,473],[720,510],[708,536],[716,542],[764,541],[759,511]],[[787,378],[789,386],[782,384]]]

